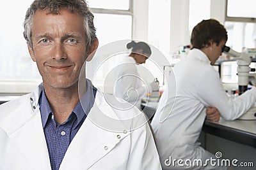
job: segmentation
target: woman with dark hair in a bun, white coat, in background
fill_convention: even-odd
[[[140,109],[141,99],[146,96],[147,90],[143,87],[143,79],[138,73],[136,64],[143,64],[151,55],[150,46],[145,42],[131,41],[127,48],[132,52],[124,57],[115,82],[114,94]]]

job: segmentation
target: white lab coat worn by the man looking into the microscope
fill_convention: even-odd
[[[163,169],[178,169],[177,166],[164,166],[164,160],[170,156],[172,159],[203,161],[216,158],[197,142],[207,106],[218,108],[225,120],[234,120],[251,108],[255,101],[254,87],[234,100],[229,99],[218,72],[210,65],[205,53],[191,50],[188,57],[173,68],[168,78],[168,89],[164,90],[151,123]],[[204,168],[218,169],[195,167]]]

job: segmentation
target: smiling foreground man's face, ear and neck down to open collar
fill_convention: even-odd
[[[79,73],[88,55],[96,50],[98,39],[86,49],[83,18],[65,9],[56,15],[38,10],[32,22],[29,53],[42,75],[54,118],[62,124],[79,101]]]

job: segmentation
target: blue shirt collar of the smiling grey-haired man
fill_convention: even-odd
[[[81,101],[76,105],[76,107],[72,111],[72,113],[75,113],[77,117],[77,124],[75,125],[75,127],[81,122],[81,120],[83,120],[84,116],[88,115],[90,109],[93,106],[96,92],[97,92],[97,89],[93,87],[92,82],[86,79],[86,93],[84,94]],[[43,127],[45,127],[47,119],[49,118],[49,115],[52,113],[52,109],[48,102],[47,97],[45,96],[44,89],[40,94],[39,105],[40,105],[40,112],[41,112],[41,118],[42,118],[42,125]]]

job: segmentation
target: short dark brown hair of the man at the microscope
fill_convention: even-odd
[[[218,20],[209,19],[199,22],[191,33],[192,48],[204,48],[210,45],[212,40],[217,45],[220,41],[227,41],[228,35],[225,27],[218,22]]]

